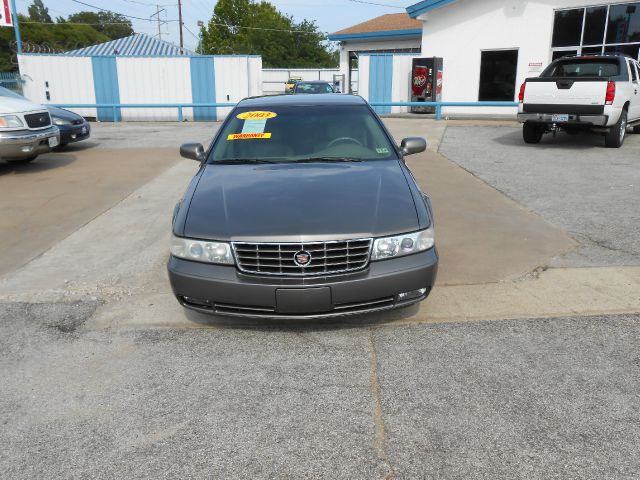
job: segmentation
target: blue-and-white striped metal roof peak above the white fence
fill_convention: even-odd
[[[64,55],[106,56],[122,55],[129,57],[141,56],[191,56],[194,52],[182,49],[173,43],[158,40],[146,33],[134,33],[129,37],[118,38],[110,42],[99,43],[89,47],[79,48],[65,52]]]

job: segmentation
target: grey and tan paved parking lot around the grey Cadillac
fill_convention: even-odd
[[[640,135],[531,147],[509,123],[386,122],[431,140],[409,165],[439,285],[331,323],[171,298],[196,169],[176,146],[216,124],[96,125],[0,167],[2,476],[637,478]]]

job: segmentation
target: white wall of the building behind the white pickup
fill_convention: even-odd
[[[443,57],[443,101],[476,102],[483,50],[518,49],[516,96],[526,77],[538,76],[536,63],[551,61],[554,10],[613,1],[458,0],[418,17],[423,20],[422,54]],[[515,99],[514,99],[515,100]],[[448,107],[443,113],[515,113],[513,108]]]

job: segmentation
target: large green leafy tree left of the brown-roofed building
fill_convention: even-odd
[[[201,34],[207,54],[262,55],[265,67],[337,65],[314,22],[295,23],[267,1],[219,0]]]

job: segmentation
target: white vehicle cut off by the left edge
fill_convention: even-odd
[[[59,143],[60,130],[45,107],[0,97],[0,160],[27,163]]]

